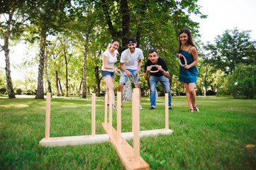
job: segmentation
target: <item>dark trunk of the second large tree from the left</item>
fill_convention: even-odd
[[[45,40],[46,32],[43,33],[40,42],[40,55],[39,55],[39,66],[38,66],[38,89],[36,91],[35,99],[44,99],[43,94],[43,68],[45,63]]]

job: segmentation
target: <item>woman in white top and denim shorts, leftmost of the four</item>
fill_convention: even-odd
[[[120,46],[119,40],[113,40],[111,42],[110,47],[103,53],[103,64],[101,67],[101,76],[103,77],[104,81],[106,82],[106,94],[109,93],[112,94],[112,107],[116,108],[115,105],[115,94],[113,92],[114,84],[113,84],[113,78],[115,75],[115,71],[117,68],[114,67],[114,64],[117,62],[117,52],[118,47]],[[108,92],[109,91],[109,92]],[[109,100],[108,100],[109,102]]]

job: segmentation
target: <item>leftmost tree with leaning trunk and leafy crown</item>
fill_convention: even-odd
[[[26,21],[23,15],[24,6],[26,1],[1,1],[0,14],[4,16],[5,21],[1,23],[0,37],[4,39],[4,45],[0,44],[1,50],[4,50],[6,57],[6,82],[9,98],[15,98],[13,91],[13,82],[11,81],[11,69],[10,69],[10,56],[9,56],[9,41],[18,40],[23,33],[23,24]],[[1,51],[0,50],[0,51]]]

